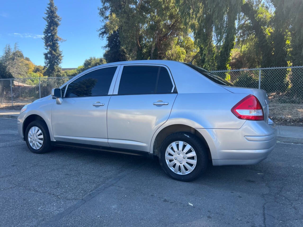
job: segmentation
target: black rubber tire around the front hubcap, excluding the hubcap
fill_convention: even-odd
[[[42,146],[39,149],[32,148],[32,146],[30,145],[30,143],[28,141],[28,131],[33,126],[36,126],[39,129],[41,129],[42,134],[43,134],[43,143],[42,143]],[[51,139],[50,139],[49,132],[48,132],[48,127],[47,127],[46,123],[43,120],[35,120],[35,121],[29,123],[29,125],[27,126],[27,128],[25,130],[25,141],[26,141],[26,144],[28,146],[28,149],[31,152],[36,153],[36,154],[46,153],[46,152],[49,152],[52,149]]]

